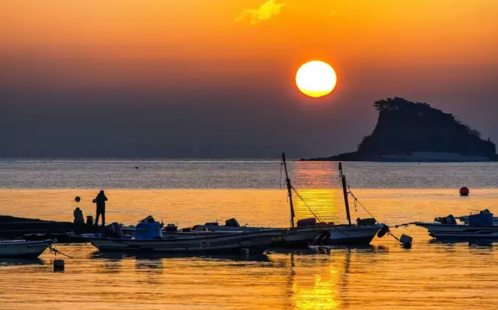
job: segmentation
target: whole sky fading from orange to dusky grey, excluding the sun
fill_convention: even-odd
[[[0,157],[356,149],[387,97],[498,142],[496,0],[2,0]],[[330,95],[295,72],[334,67]]]

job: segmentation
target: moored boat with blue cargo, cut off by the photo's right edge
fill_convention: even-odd
[[[434,222],[412,222],[428,230],[437,241],[449,242],[497,242],[498,226],[493,225],[493,213],[481,211],[467,217],[467,224],[458,224],[453,215],[435,218]]]

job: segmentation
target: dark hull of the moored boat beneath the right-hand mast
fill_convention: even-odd
[[[322,245],[369,245],[381,224],[374,225],[333,225],[330,236],[322,240]]]

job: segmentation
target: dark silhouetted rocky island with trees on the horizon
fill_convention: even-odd
[[[373,104],[378,122],[356,152],[302,161],[498,161],[493,142],[453,115],[403,98]]]

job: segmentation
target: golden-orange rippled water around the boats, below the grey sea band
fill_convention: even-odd
[[[134,224],[152,214],[181,226],[238,218],[241,224],[288,225],[285,190],[107,189],[108,222]],[[71,220],[80,195],[85,215],[95,190],[3,189],[0,214]],[[300,191],[320,217],[345,222],[342,193]],[[398,224],[492,209],[498,190],[472,190],[461,199],[449,189],[357,189],[355,195],[382,222]],[[309,217],[296,199],[297,218]],[[15,208],[13,207],[15,206]],[[355,211],[352,216],[366,217]],[[100,254],[91,245],[58,245],[75,256],[54,273],[48,252],[40,260],[0,261],[0,309],[496,309],[498,259],[491,246],[431,243],[409,227],[411,250],[394,239],[329,254],[270,252],[244,257],[143,257]],[[77,305],[77,306],[76,306]]]

